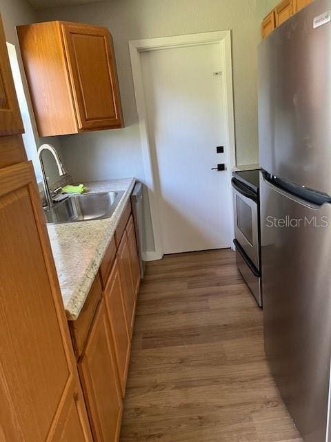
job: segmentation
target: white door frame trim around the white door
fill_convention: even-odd
[[[232,51],[231,51],[231,31],[222,30],[215,32],[202,32],[199,34],[175,35],[173,37],[157,37],[152,39],[129,41],[130,59],[132,66],[132,76],[134,84],[134,95],[136,97],[137,113],[139,120],[139,131],[141,136],[141,151],[143,153],[143,169],[145,172],[144,184],[148,188],[148,198],[150,201],[150,215],[152,219],[152,229],[154,232],[155,251],[145,253],[144,259],[147,261],[159,260],[163,258],[163,244],[161,237],[161,222],[159,219],[159,195],[161,195],[159,177],[155,171],[155,155],[152,154],[150,140],[148,136],[148,117],[146,112],[146,98],[143,90],[143,75],[141,70],[141,52],[159,50],[166,48],[180,48],[185,46],[201,46],[202,44],[219,43],[219,55],[221,57],[222,86],[225,93],[222,94],[222,106],[226,115],[225,140],[226,140],[226,173],[228,175],[228,198],[230,211],[233,213],[231,176],[232,168],[236,165],[235,138],[234,138],[234,110],[233,110],[233,86],[232,86]],[[214,166],[214,164],[213,164]],[[234,238],[233,216],[230,216],[230,231]]]

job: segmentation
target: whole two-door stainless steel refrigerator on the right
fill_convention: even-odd
[[[258,50],[265,354],[305,442],[331,441],[330,11],[315,0]]]

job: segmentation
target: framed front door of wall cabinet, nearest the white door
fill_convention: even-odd
[[[106,28],[62,23],[80,130],[122,126],[114,50]]]

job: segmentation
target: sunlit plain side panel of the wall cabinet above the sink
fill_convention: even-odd
[[[59,22],[17,26],[39,137],[77,133]]]

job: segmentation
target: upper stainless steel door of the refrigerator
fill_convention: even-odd
[[[330,10],[313,1],[261,42],[258,59],[261,168],[331,195]]]

